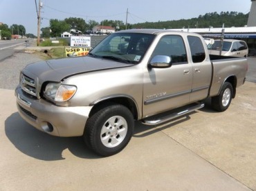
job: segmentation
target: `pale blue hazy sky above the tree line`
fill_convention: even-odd
[[[39,0],[0,0],[0,22],[22,25],[26,33],[37,34],[37,7]],[[41,0],[41,28],[49,26],[50,19],[69,17],[84,21],[120,20],[124,23],[144,23],[192,19],[208,12],[250,12],[250,0]],[[127,14],[128,10],[128,14]]]

